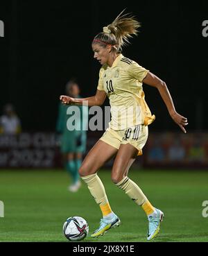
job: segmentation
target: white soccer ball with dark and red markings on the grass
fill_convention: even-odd
[[[72,216],[64,222],[63,232],[70,241],[80,241],[87,237],[89,226],[82,217]]]

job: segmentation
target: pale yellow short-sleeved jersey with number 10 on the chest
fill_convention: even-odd
[[[149,125],[155,120],[144,99],[142,81],[148,70],[122,54],[112,67],[103,65],[99,73],[98,87],[110,99],[110,128],[123,130],[139,124]]]

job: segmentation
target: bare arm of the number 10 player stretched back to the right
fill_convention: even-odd
[[[183,117],[182,115],[176,112],[173,99],[171,97],[170,92],[168,91],[166,83],[150,71],[143,79],[143,83],[145,83],[146,85],[156,87],[159,90],[159,94],[162,96],[162,99],[166,104],[166,107],[168,108],[168,112],[171,115],[171,118],[173,119],[173,121],[175,121],[175,123],[177,123],[178,126],[180,126],[184,133],[187,133],[187,131],[184,128],[184,126],[187,126],[188,124],[187,118]]]

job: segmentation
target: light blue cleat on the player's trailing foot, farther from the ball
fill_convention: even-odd
[[[155,216],[154,215],[148,216],[148,221],[149,221],[148,234],[147,234],[148,240],[152,240],[157,236],[157,234],[159,233],[159,224],[164,217],[164,213],[161,210],[156,208],[155,210],[157,212]]]

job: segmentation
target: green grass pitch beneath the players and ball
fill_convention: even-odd
[[[110,171],[100,171],[99,176],[121,225],[103,237],[88,236],[83,241],[146,241],[148,222],[141,207],[111,182]],[[208,200],[207,171],[138,169],[130,170],[129,176],[165,214],[153,242],[208,241],[208,217],[202,216],[202,202]],[[1,170],[4,217],[0,218],[0,241],[67,242],[62,225],[69,216],[83,216],[91,234],[101,219],[100,209],[85,184],[74,194],[67,191],[68,185],[63,170]]]

